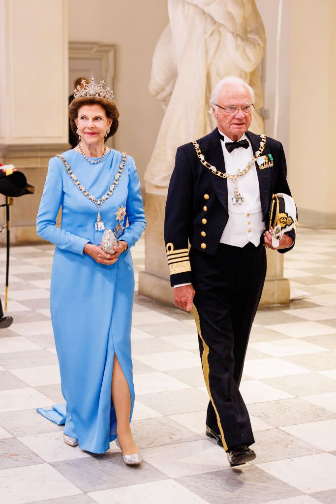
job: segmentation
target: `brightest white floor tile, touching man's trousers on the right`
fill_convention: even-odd
[[[306,372],[309,369],[277,358],[247,360],[244,365],[244,374],[255,380]]]

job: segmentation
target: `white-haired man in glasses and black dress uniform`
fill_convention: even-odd
[[[210,402],[206,434],[232,466],[255,458],[239,392],[252,322],[266,274],[272,195],[291,195],[280,142],[248,132],[254,93],[227,77],[213,90],[217,128],[177,149],[166,206],[165,243],[175,305],[193,310]],[[188,250],[188,241],[190,250]],[[294,246],[295,229],[279,251]]]

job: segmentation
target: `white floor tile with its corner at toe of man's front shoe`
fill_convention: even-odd
[[[336,488],[336,457],[330,453],[266,462],[257,467],[302,492]]]

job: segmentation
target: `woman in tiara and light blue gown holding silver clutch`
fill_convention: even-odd
[[[117,438],[124,461],[135,464],[142,458],[129,425],[135,396],[130,248],[146,223],[134,160],[105,144],[118,129],[119,112],[102,84],[92,78],[75,90],[69,116],[79,143],[50,159],[37,216],[38,235],[56,245],[50,309],[66,401],[38,412],[65,423],[65,443],[103,453]],[[111,254],[100,244],[104,228],[118,239]]]

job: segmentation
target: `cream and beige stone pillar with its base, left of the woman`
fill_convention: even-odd
[[[12,241],[34,242],[48,160],[68,148],[67,0],[0,0],[0,72],[0,161],[35,185],[14,201]]]

